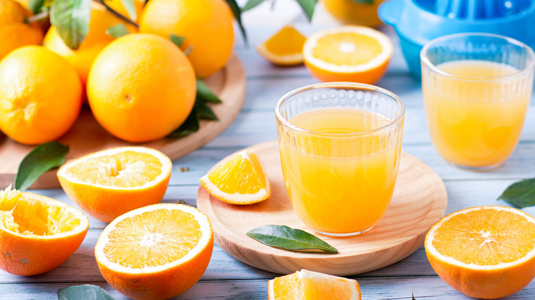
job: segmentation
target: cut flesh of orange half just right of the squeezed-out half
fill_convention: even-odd
[[[108,234],[104,254],[128,268],[161,266],[184,257],[202,237],[195,217],[181,210],[152,210],[126,218]]]

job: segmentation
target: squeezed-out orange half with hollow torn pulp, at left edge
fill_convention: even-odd
[[[0,190],[0,268],[16,275],[50,271],[73,255],[88,228],[87,216],[71,205]]]

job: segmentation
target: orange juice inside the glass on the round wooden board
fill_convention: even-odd
[[[318,232],[335,235],[373,227],[394,192],[399,127],[370,134],[391,122],[356,108],[311,110],[289,123],[310,131],[295,132],[292,142],[280,147],[286,188],[301,220]]]

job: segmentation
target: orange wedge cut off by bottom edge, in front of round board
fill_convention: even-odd
[[[360,287],[347,279],[308,270],[275,277],[268,282],[269,300],[360,300]]]

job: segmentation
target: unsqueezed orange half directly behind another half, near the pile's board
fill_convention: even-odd
[[[72,160],[58,170],[73,201],[100,221],[159,203],[171,176],[167,155],[147,147],[117,147]]]

